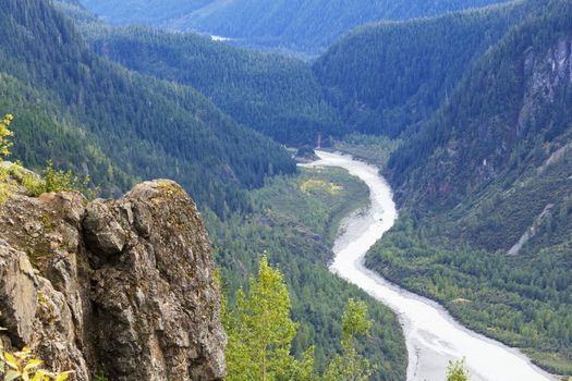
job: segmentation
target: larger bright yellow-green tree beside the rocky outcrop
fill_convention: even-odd
[[[236,294],[233,311],[224,311],[229,335],[227,366],[233,380],[308,380],[314,374],[313,347],[302,360],[290,354],[297,323],[290,318],[290,296],[278,269],[260,260],[251,290]]]

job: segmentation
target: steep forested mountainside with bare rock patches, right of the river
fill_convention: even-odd
[[[572,3],[531,12],[405,139],[368,266],[572,373]]]

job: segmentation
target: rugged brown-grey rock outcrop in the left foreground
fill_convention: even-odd
[[[170,181],[119,200],[76,193],[0,206],[4,346],[75,380],[219,380],[226,335],[207,233]]]

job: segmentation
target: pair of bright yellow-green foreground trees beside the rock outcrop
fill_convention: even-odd
[[[222,320],[229,335],[228,380],[317,380],[367,381],[376,367],[357,353],[358,336],[367,336],[373,321],[367,305],[350,298],[342,318],[342,354],[336,354],[324,376],[314,370],[314,347],[302,359],[291,353],[299,324],[290,318],[290,297],[278,269],[259,263],[258,278],[251,279],[248,295],[238,292],[235,307],[223,299]]]

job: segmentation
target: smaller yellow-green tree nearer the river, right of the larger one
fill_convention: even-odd
[[[372,321],[367,319],[367,306],[364,302],[348,300],[348,309],[342,318],[342,352],[331,360],[324,379],[326,381],[366,381],[376,367],[357,353],[357,335],[367,335]]]

